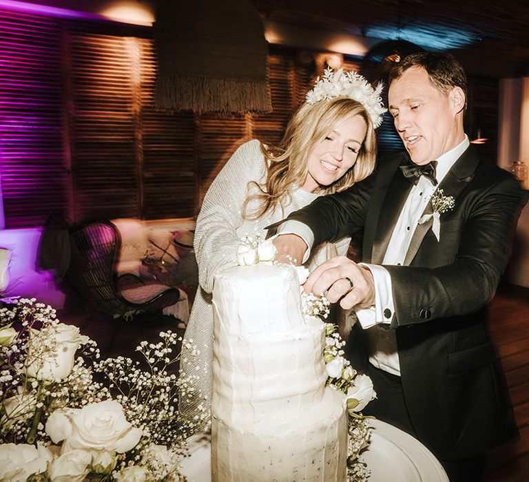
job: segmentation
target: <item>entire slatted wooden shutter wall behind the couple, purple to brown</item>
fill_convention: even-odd
[[[2,10],[0,27],[6,227],[40,225],[53,212],[70,221],[194,217],[238,143],[278,143],[314,81],[317,52],[272,45],[273,112],[156,112],[150,32]],[[344,67],[360,64],[346,57]],[[479,86],[479,107],[495,125],[497,83],[481,79]]]

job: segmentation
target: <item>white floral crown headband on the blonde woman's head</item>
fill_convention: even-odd
[[[343,69],[333,72],[329,67],[325,69],[323,78],[316,78],[313,90],[307,92],[307,103],[315,104],[337,97],[352,98],[365,107],[376,129],[382,124],[382,114],[387,110],[380,97],[382,88],[382,83],[379,83],[373,89],[369,82],[356,72],[344,72]]]

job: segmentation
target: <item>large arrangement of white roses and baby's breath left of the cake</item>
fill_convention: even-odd
[[[100,360],[95,342],[50,306],[3,303],[0,480],[185,480],[190,427],[178,420],[176,394],[188,380],[170,373],[182,339],[167,332],[142,342],[146,369],[125,357]]]

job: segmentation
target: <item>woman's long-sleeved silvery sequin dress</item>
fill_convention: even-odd
[[[243,218],[242,205],[247,197],[248,182],[264,181],[264,162],[258,140],[241,145],[212,182],[196,220],[194,248],[199,286],[185,331],[185,340],[194,348],[183,345],[180,375],[197,375],[198,379],[192,382],[191,395],[189,384],[180,392],[178,405],[180,417],[194,423],[194,432],[205,430],[209,424],[213,364],[211,292],[214,275],[237,264],[237,249],[245,235],[260,234],[264,239],[264,227],[282,220],[319,196],[300,187],[293,187],[290,199],[283,204],[283,210],[269,211],[257,220]],[[343,238],[335,244],[322,244],[311,253],[305,266],[312,271],[315,266],[335,255],[345,255],[349,241],[349,238]],[[199,351],[198,355],[194,355],[194,350]],[[200,419],[200,414],[206,415],[203,420]]]

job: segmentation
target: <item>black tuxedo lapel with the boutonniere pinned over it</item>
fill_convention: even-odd
[[[439,184],[438,189],[443,190],[444,196],[452,196],[457,204],[457,197],[468,185],[468,182],[473,179],[475,176],[475,171],[479,163],[479,157],[475,149],[470,146],[461,157],[455,162],[450,171],[446,174],[441,184]],[[432,205],[428,202],[426,209],[422,213],[422,216],[425,214],[431,214],[433,212]],[[443,216],[440,218],[441,226],[443,224]],[[406,258],[404,258],[404,266],[408,266],[415,258],[419,247],[421,246],[424,236],[428,230],[432,227],[433,219],[430,218],[428,221],[423,224],[419,224],[413,233],[413,238],[411,238],[410,247],[406,253]],[[441,241],[439,241],[441,242]]]

